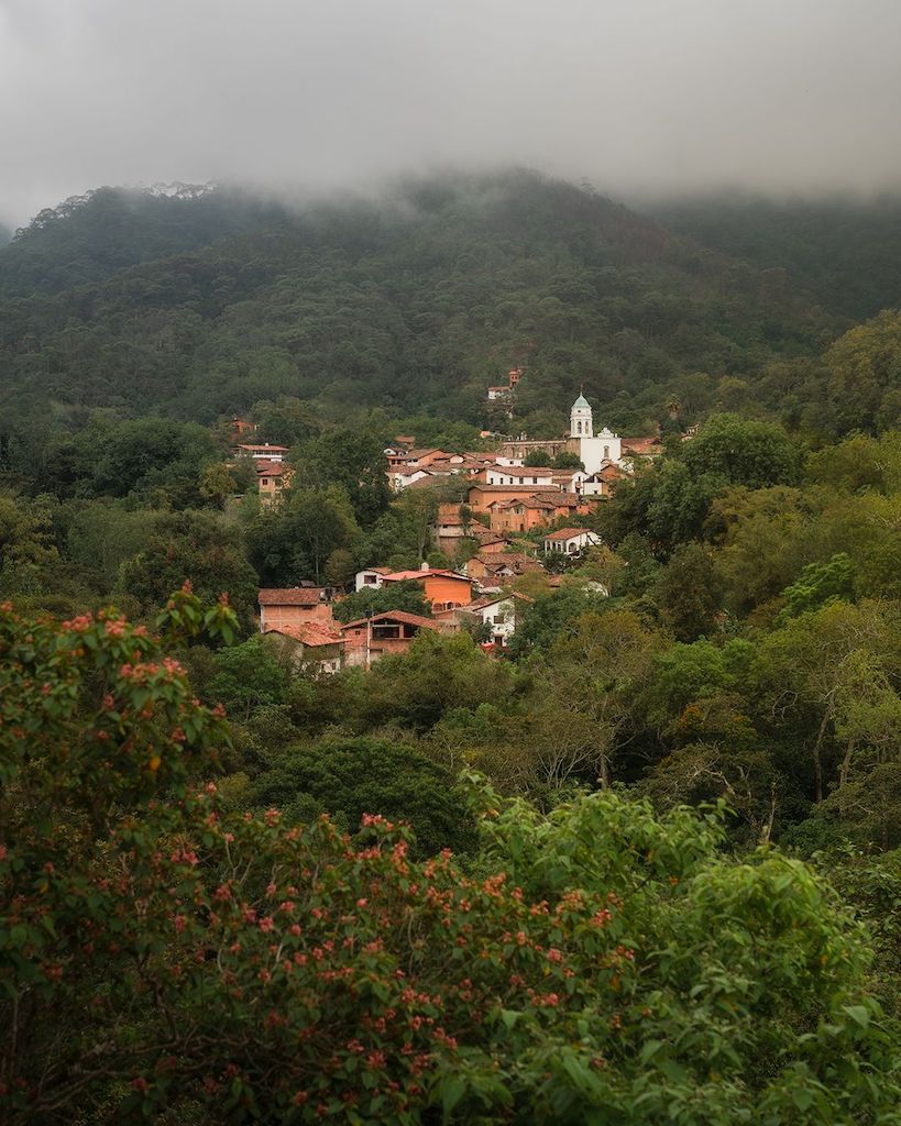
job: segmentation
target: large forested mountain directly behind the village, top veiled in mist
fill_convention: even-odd
[[[0,250],[14,429],[96,408],[208,422],[282,394],[332,418],[380,404],[481,422],[514,360],[524,419],[585,384],[630,428],[672,396],[710,409],[723,377],[752,386],[840,328],[783,275],[528,172],[291,207],[105,188]]]

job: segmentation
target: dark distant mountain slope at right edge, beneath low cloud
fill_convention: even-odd
[[[755,270],[786,270],[838,316],[860,321],[901,305],[901,197],[771,199],[726,197],[663,203],[659,222]]]

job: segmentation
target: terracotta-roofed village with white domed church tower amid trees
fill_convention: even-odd
[[[489,397],[502,392],[509,399],[521,374],[521,368],[512,369],[509,384],[489,387]],[[252,465],[259,503],[268,508],[280,502],[294,470],[287,446],[252,437],[250,423],[232,420],[233,458]],[[407,652],[422,629],[466,629],[485,652],[501,655],[516,632],[518,608],[529,600],[515,589],[517,580],[539,574],[557,586],[561,571],[600,547],[600,536],[585,525],[618,481],[662,449],[657,435],[621,437],[606,427],[596,432],[591,404],[582,394],[572,404],[563,436],[502,438],[488,452],[420,448],[414,436],[398,436],[384,450],[392,493],[437,495],[440,485],[452,484],[460,494],[454,501],[436,499],[429,522],[431,547],[452,565],[423,561],[419,569],[400,571],[376,565],[357,572],[353,590],[351,584],[340,589],[312,581],[262,589],[260,632],[280,638],[297,665],[321,673],[349,665],[368,669],[383,655]],[[414,590],[430,616],[403,609],[398,598],[396,606],[368,609],[355,620],[336,617],[351,593],[381,591],[384,597],[402,589]]]

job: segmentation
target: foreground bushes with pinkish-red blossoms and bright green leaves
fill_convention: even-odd
[[[715,812],[470,779],[481,852],[413,861],[188,785],[221,721],[118,618],[0,637],[5,1121],[894,1120],[860,936]]]

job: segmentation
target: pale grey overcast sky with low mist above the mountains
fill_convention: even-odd
[[[900,44],[901,0],[0,0],[0,218],[441,164],[893,187]]]

